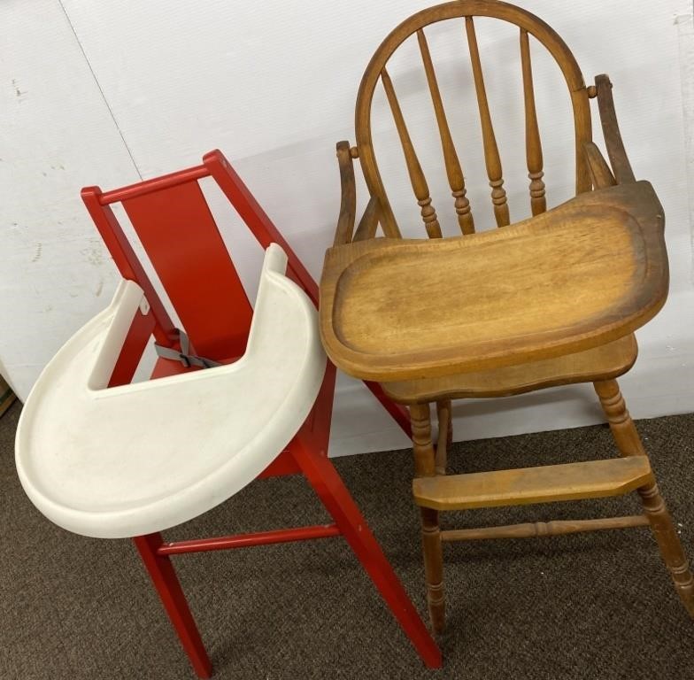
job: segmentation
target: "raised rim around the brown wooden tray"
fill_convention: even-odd
[[[584,328],[568,336],[559,336],[553,341],[542,344],[522,343],[516,347],[506,345],[496,352],[486,351],[483,357],[474,355],[474,347],[481,346],[480,343],[467,344],[465,354],[457,352],[455,348],[438,349],[436,356],[435,352],[431,352],[424,359],[421,352],[418,352],[416,356],[413,352],[376,355],[354,350],[343,343],[333,326],[336,287],[342,274],[361,257],[379,257],[375,253],[384,254],[384,251],[391,248],[412,248],[418,244],[428,244],[428,247],[433,248],[437,245],[428,239],[375,238],[370,241],[336,246],[326,252],[320,282],[320,337],[328,356],[337,367],[342,368],[349,375],[366,380],[388,382],[512,366],[533,359],[551,359],[588,350],[632,333],[636,328],[650,321],[667,299],[667,251],[663,237],[663,212],[658,197],[649,182],[622,184],[580,194],[539,217],[545,221],[551,220],[552,216],[560,217],[562,212],[567,210],[567,206],[575,206],[577,203],[596,207],[605,205],[609,206],[611,211],[622,211],[628,215],[629,220],[633,220],[644,243],[643,279],[635,295],[628,295],[622,299],[621,311],[619,307],[608,310],[617,313],[614,321],[608,321],[614,314],[601,314],[599,318],[605,321],[598,323],[597,326],[593,324],[590,328]],[[533,220],[537,218],[522,220],[503,228],[503,231],[508,233],[518,228],[528,228]],[[495,238],[495,235],[498,236]],[[501,232],[492,230],[472,236],[456,236],[453,239],[467,240],[467,243],[471,243],[472,246],[475,240],[480,243],[487,239],[497,240],[510,236],[510,233],[508,236],[501,236]],[[446,239],[446,241],[450,243],[453,239]],[[334,265],[334,263],[339,262],[340,259],[344,259],[344,262],[342,268],[335,274],[335,268],[340,265]],[[624,313],[625,305],[633,311]],[[541,336],[542,334],[537,334],[535,337]]]

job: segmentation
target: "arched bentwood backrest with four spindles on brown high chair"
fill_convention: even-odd
[[[459,0],[439,4],[405,19],[395,28],[374,53],[366,66],[366,72],[359,87],[356,108],[356,136],[359,160],[366,180],[366,186],[372,197],[380,201],[380,220],[387,236],[399,236],[399,229],[374,155],[372,141],[371,114],[374,90],[381,82],[388,98],[390,110],[396,123],[397,133],[405,153],[405,163],[412,183],[414,196],[420,205],[421,219],[427,228],[428,236],[440,237],[436,210],[431,203],[428,183],[422,172],[420,161],[408,133],[405,118],[397,102],[396,89],[390,80],[387,65],[389,58],[405,40],[416,35],[419,43],[422,65],[427,76],[428,89],[436,115],[436,125],[441,137],[443,162],[446,176],[451,188],[453,205],[458,215],[459,227],[463,234],[474,233],[474,218],[466,197],[466,186],[458,152],[452,141],[451,129],[443,108],[443,101],[436,81],[436,71],[428,49],[425,28],[439,21],[458,21],[460,31],[467,35],[467,44],[474,76],[474,90],[477,99],[480,122],[482,126],[482,143],[487,175],[491,187],[491,201],[497,226],[509,223],[509,210],[506,203],[501,158],[492,126],[490,106],[482,76],[482,59],[477,46],[474,28],[475,17],[490,17],[514,24],[519,28],[520,65],[519,77],[522,78],[525,109],[525,145],[530,179],[530,203],[534,215],[546,209],[543,182],[543,154],[537,124],[535,94],[533,90],[532,67],[530,63],[529,44],[532,39],[542,43],[556,60],[567,83],[571,105],[574,113],[575,134],[575,188],[576,193],[591,189],[590,173],[583,154],[583,144],[591,141],[589,95],[583,81],[581,70],[566,43],[542,19],[530,12],[521,10],[511,4],[497,0]]]

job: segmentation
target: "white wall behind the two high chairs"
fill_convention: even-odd
[[[526,0],[523,5],[562,35],[587,81],[596,73],[610,74],[632,165],[637,176],[653,182],[665,206],[671,294],[663,312],[638,333],[641,356],[622,382],[630,409],[637,417],[693,411],[690,3]],[[108,189],[136,182],[195,165],[205,151],[219,147],[318,277],[339,206],[335,142],[353,140],[361,73],[389,30],[424,6],[421,0],[0,4],[0,372],[19,397],[26,398],[58,346],[107,303],[116,283],[112,262],[81,205],[84,185]],[[515,141],[521,122],[517,37],[504,28],[481,22],[480,42],[512,216],[520,219],[528,208],[522,148]],[[474,139],[477,122],[469,118],[472,126],[462,124],[474,100],[456,87],[469,84],[460,35],[459,28],[436,27],[430,42],[444,97],[455,112],[451,120],[459,116],[461,122],[457,141],[465,149],[468,183],[478,187],[470,196],[483,223],[490,209]],[[539,50],[533,58],[547,139],[546,181],[556,204],[569,197],[571,183],[567,111],[556,104],[565,92]],[[419,120],[425,110],[428,115],[416,54],[404,52],[390,70],[408,120]],[[380,112],[382,97],[375,105]],[[417,215],[389,116],[376,128],[384,172],[393,178],[391,197],[401,197],[395,210],[411,215],[414,224]],[[433,168],[440,162],[432,140],[415,138],[433,186]],[[433,196],[443,216],[444,189]],[[224,213],[223,207],[218,210]],[[235,240],[239,226],[232,215],[224,228]],[[236,246],[235,258],[250,272],[259,254],[246,239]],[[455,413],[457,438],[600,419],[590,389],[582,386],[460,402]],[[332,452],[400,445],[406,445],[405,437],[366,390],[341,378]]]

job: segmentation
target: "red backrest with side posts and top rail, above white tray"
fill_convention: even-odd
[[[281,245],[289,258],[289,277],[315,305],[318,285],[222,153],[210,151],[203,161],[106,193],[88,187],[81,197],[120,274],[143,288],[157,342],[176,345],[174,324],[128,243],[113,203],[123,205],[190,338],[191,352],[228,359],[245,350],[252,310],[198,180],[212,176],[264,249],[270,243]]]

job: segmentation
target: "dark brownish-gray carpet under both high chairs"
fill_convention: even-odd
[[[0,420],[0,677],[194,677],[128,541],[53,526],[13,463],[19,404]],[[694,415],[638,423],[694,556]],[[457,471],[588,460],[606,427],[456,444]],[[339,459],[374,533],[424,612],[410,452]],[[635,498],[600,504],[615,514]],[[625,509],[626,506],[626,509]],[[475,511],[468,526],[595,516],[595,503]],[[254,483],[168,537],[318,523],[301,478]],[[648,529],[445,546],[449,626],[428,671],[342,538],[175,559],[216,678],[694,678],[694,622]]]

